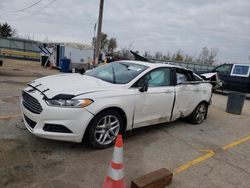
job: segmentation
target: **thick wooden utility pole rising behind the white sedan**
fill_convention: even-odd
[[[101,32],[102,32],[102,17],[103,17],[103,5],[104,5],[104,0],[100,0],[98,28],[97,28],[97,38],[96,38],[96,46],[95,46],[95,64],[94,64],[94,66],[98,64],[99,54],[100,54]]]

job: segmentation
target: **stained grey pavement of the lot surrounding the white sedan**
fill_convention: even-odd
[[[38,64],[0,68],[0,187],[99,188],[113,148],[38,138],[20,117],[27,82],[58,72]],[[165,167],[171,188],[248,188],[250,185],[250,101],[242,115],[225,112],[227,96],[214,94],[207,120],[178,120],[129,132],[124,137],[127,187],[132,179]]]

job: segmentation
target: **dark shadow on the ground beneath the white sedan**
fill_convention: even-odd
[[[24,127],[23,122],[18,127]],[[150,134],[157,133],[159,131],[168,132],[171,129],[175,129],[176,127],[186,127],[186,126],[193,126],[192,124],[186,123],[182,120],[177,120],[170,123],[161,123],[150,125],[146,127],[136,128],[130,131],[127,131],[124,134],[124,142],[133,141],[136,137],[140,136],[147,136]],[[24,131],[21,129],[20,131],[24,132],[23,137],[26,137],[26,142],[29,145],[29,149],[32,153],[40,152],[44,154],[50,154],[54,152],[81,152],[81,153],[90,153],[95,152],[96,149],[93,149],[90,145],[88,145],[85,140],[81,143],[74,143],[74,142],[66,142],[66,141],[57,141],[57,140],[50,140],[45,138],[37,137],[31,134],[27,129]]]

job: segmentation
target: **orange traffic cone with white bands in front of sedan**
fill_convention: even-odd
[[[118,135],[103,188],[125,188],[122,135]]]

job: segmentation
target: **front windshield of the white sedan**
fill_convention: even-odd
[[[148,67],[129,62],[113,62],[89,70],[85,75],[99,78],[114,84],[126,84]]]

